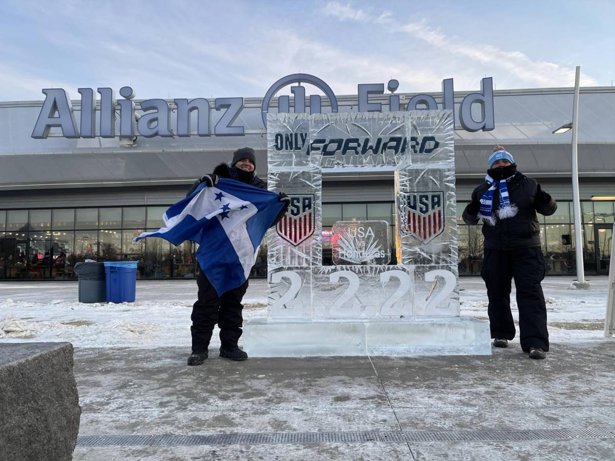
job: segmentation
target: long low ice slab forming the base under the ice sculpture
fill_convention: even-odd
[[[244,326],[250,357],[336,355],[490,355],[489,324],[475,318],[397,321],[250,320]]]

